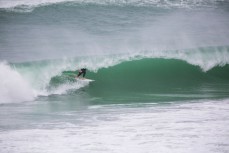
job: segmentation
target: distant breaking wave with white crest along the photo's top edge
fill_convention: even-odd
[[[18,0],[0,2],[0,9],[15,12],[31,12],[34,8],[56,4],[64,5],[115,5],[115,6],[153,6],[159,8],[194,8],[215,7],[216,4],[226,3],[226,0]]]

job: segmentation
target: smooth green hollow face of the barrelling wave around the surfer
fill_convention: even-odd
[[[97,71],[89,70],[87,77],[95,82],[69,91],[86,92],[104,103],[223,98],[228,94],[228,72],[228,64],[205,72],[178,59],[134,59]],[[62,71],[51,78],[48,86],[51,89],[75,84],[76,75],[77,71]]]

